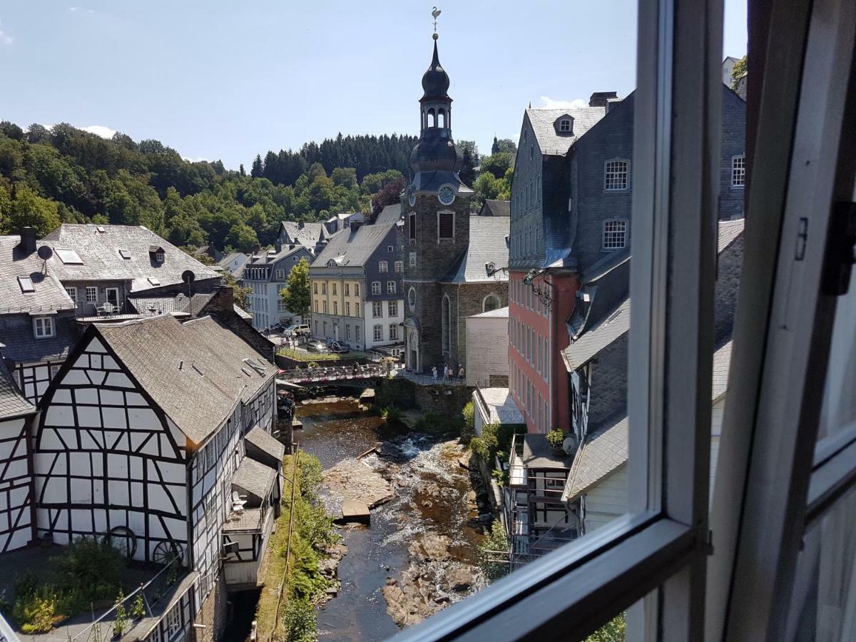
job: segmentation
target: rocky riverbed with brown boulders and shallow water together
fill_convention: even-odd
[[[335,508],[354,490],[377,507],[371,526],[342,527],[341,588],[318,611],[319,639],[385,639],[484,586],[478,546],[490,515],[456,441],[390,426],[355,401],[298,414],[301,447],[325,470],[325,503]]]

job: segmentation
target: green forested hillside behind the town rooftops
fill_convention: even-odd
[[[179,247],[247,252],[273,243],[281,221],[371,215],[397,202],[416,140],[339,134],[298,152],[259,154],[246,172],[189,162],[158,140],[122,133],[108,140],[67,123],[23,129],[0,122],[0,233],[32,225],[45,235],[60,223],[145,225]],[[477,187],[476,204],[508,198],[510,154],[482,158],[489,171],[477,178],[478,150],[460,144],[461,178]]]

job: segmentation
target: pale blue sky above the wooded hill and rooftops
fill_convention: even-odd
[[[453,134],[490,151],[523,109],[633,90],[631,0],[458,0],[440,7]],[[154,138],[186,158],[342,134],[418,134],[431,5],[313,0],[11,0],[0,4],[0,119]],[[723,45],[746,52],[746,0]]]

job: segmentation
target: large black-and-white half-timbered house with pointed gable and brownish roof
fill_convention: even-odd
[[[263,356],[211,317],[91,324],[41,405],[39,537],[109,534],[136,560],[181,556],[197,613],[222,581],[231,525],[243,517],[259,554],[270,534],[279,469],[245,447],[274,421],[276,366]]]

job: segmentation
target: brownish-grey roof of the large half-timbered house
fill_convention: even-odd
[[[93,327],[196,445],[229,418],[237,401],[250,401],[276,376],[276,366],[211,317],[181,324],[163,314]]]

